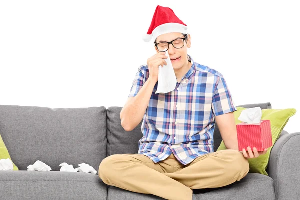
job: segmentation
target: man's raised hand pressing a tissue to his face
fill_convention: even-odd
[[[158,52],[149,59],[147,59],[147,64],[149,68],[149,78],[151,78],[155,83],[158,81],[158,67],[161,65],[166,65],[167,56],[165,52]]]

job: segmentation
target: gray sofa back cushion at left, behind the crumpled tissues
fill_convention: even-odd
[[[106,108],[0,105],[0,132],[19,170],[40,160],[53,171],[62,162],[98,171],[106,157]]]

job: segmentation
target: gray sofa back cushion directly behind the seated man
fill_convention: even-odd
[[[268,102],[239,105],[237,107],[260,107],[261,109],[270,109],[271,104]],[[143,136],[141,132],[142,121],[132,131],[127,132],[123,129],[120,119],[121,110],[122,107],[109,107],[107,109],[107,156],[113,154],[137,153],[138,140]],[[216,151],[222,141],[217,124],[215,125],[213,139],[214,151]]]

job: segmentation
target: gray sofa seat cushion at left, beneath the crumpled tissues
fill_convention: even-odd
[[[62,171],[0,171],[1,199],[106,199],[98,175]]]

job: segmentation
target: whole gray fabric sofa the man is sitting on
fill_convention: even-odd
[[[270,103],[240,105],[271,108]],[[162,199],[107,186],[98,177],[100,162],[109,155],[137,153],[141,123],[126,132],[122,107],[46,108],[0,105],[0,134],[19,171],[0,171],[0,199]],[[216,126],[215,150],[221,142]],[[300,132],[282,131],[271,151],[269,176],[248,173],[221,188],[194,190],[197,199],[300,199]],[[27,171],[40,160],[49,172]],[[84,162],[97,174],[61,172],[62,162]],[[163,188],[161,188],[163,189]]]

